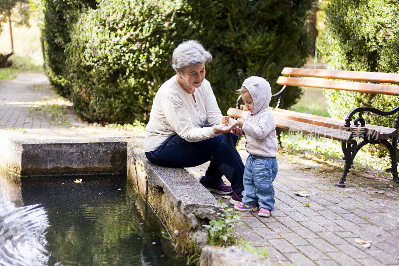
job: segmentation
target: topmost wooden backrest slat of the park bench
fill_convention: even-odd
[[[331,79],[345,79],[353,81],[399,84],[399,74],[397,73],[284,67],[283,71],[281,71],[281,74],[283,76],[291,76],[291,77],[319,77],[319,78],[331,78]]]

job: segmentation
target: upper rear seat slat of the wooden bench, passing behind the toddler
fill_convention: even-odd
[[[330,117],[323,117],[323,116],[318,116],[318,115],[312,115],[312,114],[306,114],[306,113],[299,113],[295,111],[289,111],[285,109],[279,109],[279,108],[271,108],[273,117],[274,119],[281,118],[281,119],[286,119],[290,121],[297,121],[300,123],[304,123],[310,127],[309,132],[312,130],[315,130],[315,128],[312,129],[311,125],[314,126],[319,126],[319,127],[324,127],[327,129],[335,129],[335,130],[341,130],[345,131],[345,120],[340,120],[340,119],[334,119]],[[244,110],[239,110],[236,108],[229,108],[227,111],[228,115],[231,115],[231,117],[243,117],[248,114],[248,111]],[[371,124],[366,124],[365,127],[359,127],[355,126],[353,124],[353,121],[351,123],[351,132],[354,134],[360,134],[364,130],[367,130],[367,134],[372,136],[374,139],[389,139],[390,137],[393,138],[398,135],[398,130],[395,128],[391,127],[382,127],[382,126],[376,126],[376,125],[371,125]],[[302,124],[301,124],[302,125]],[[280,127],[277,125],[277,127]],[[283,126],[283,125],[281,125]],[[303,125],[302,125],[303,126]],[[303,126],[304,127],[304,126]],[[285,128],[285,127],[282,127]],[[317,129],[320,130],[320,129]],[[319,131],[317,131],[319,132]]]

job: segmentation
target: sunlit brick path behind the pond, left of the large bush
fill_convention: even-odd
[[[58,107],[57,113],[64,112],[65,121],[54,121],[47,111],[34,111],[34,107],[45,106]],[[20,73],[13,80],[0,80],[0,129],[17,130],[41,139],[143,135],[80,121],[71,103],[52,92],[47,77],[31,72]]]

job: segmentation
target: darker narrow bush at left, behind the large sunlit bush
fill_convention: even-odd
[[[81,12],[94,8],[96,0],[43,0],[44,25],[41,44],[44,69],[56,92],[70,98],[70,69],[66,68],[65,46],[70,42],[70,28]]]

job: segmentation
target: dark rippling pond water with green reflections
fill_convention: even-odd
[[[126,176],[77,179],[26,178],[20,199],[0,194],[0,265],[185,265]]]

